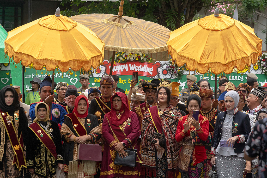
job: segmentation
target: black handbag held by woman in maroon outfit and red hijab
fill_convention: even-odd
[[[132,147],[132,144],[128,139],[125,139],[128,141],[129,145]],[[136,155],[137,150],[132,148],[127,148],[127,150],[124,150],[126,153],[126,157],[122,158],[119,156],[118,152],[114,160],[114,164],[116,165],[122,165],[122,166],[129,166],[129,167],[136,167]]]

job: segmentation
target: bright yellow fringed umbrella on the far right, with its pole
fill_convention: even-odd
[[[209,15],[176,29],[167,42],[172,60],[189,70],[229,74],[234,68],[243,70],[256,64],[262,40],[254,29],[227,15]],[[217,90],[215,77],[215,93]],[[215,95],[216,96],[216,95]]]

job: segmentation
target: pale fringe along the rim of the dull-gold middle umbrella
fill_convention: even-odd
[[[116,52],[125,52],[125,53],[159,53],[163,51],[168,50],[168,46],[160,46],[157,48],[147,48],[147,49],[140,49],[140,48],[126,48],[126,47],[120,47],[120,46],[111,46],[111,45],[105,45],[105,50],[108,51],[116,51]]]

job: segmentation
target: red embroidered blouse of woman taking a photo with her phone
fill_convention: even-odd
[[[191,131],[196,130],[196,128],[192,125],[186,134],[183,132],[184,129],[183,124],[184,122],[187,121],[188,117],[189,114],[179,119],[177,130],[175,133],[176,141],[182,141],[185,136],[191,136],[190,135]],[[199,114],[199,123],[200,123],[200,129],[196,130],[198,136],[201,140],[207,140],[209,136],[209,120],[206,117]],[[193,165],[196,165],[204,161],[205,159],[207,159],[205,146],[195,145],[193,150]]]

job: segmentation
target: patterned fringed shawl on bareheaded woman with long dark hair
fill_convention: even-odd
[[[158,106],[153,106],[158,107]],[[160,108],[158,107],[160,113]],[[151,113],[154,118],[154,114]],[[177,129],[179,118],[181,113],[176,110],[174,106],[167,106],[160,116],[160,122],[162,124],[163,138],[166,138],[165,153],[167,162],[167,173],[168,177],[175,175],[176,168],[178,166],[178,157],[180,151],[180,144],[175,140],[175,132]],[[142,123],[142,165],[144,166],[143,172],[145,171],[147,176],[156,176],[156,148],[151,143],[152,137],[157,138],[154,134],[156,132],[154,123],[151,119],[149,110],[144,114]],[[157,138],[158,139],[158,138]]]

